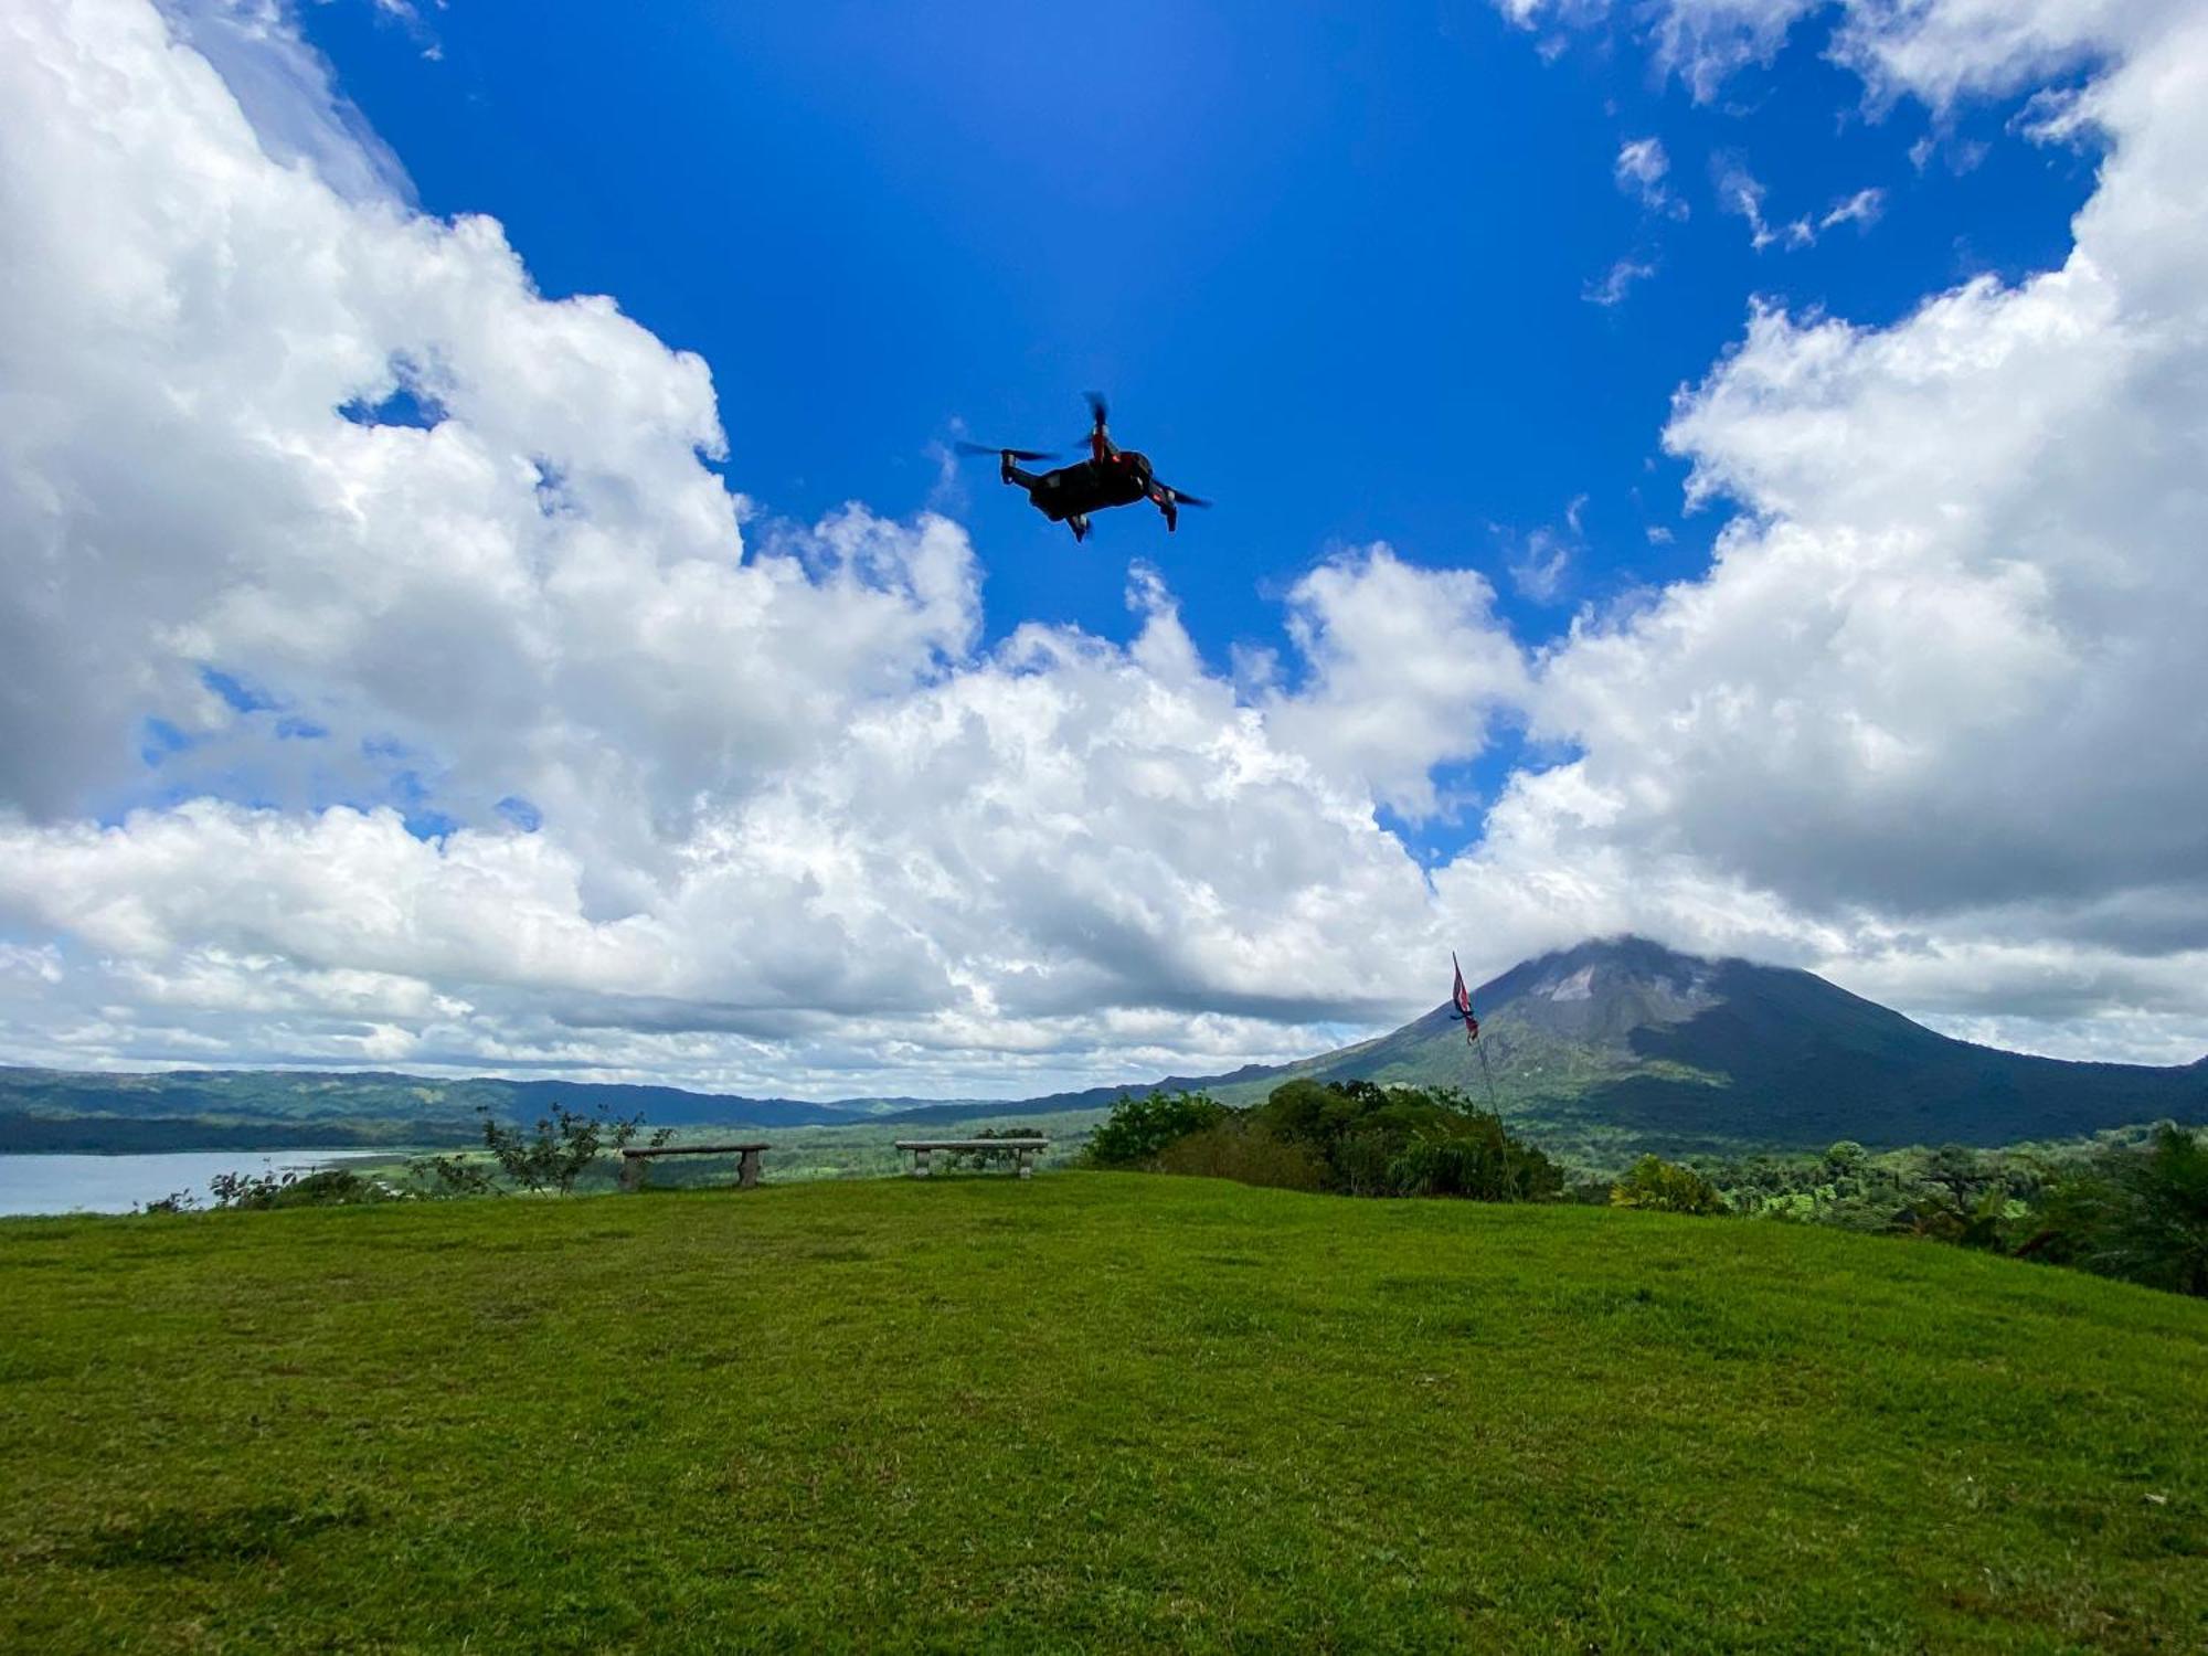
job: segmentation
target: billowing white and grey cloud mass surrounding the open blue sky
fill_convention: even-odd
[[[1652,42],[1700,93],[1808,11]],[[1755,309],[1663,433],[1718,556],[1627,614],[1528,649],[1358,548],[1221,673],[1148,572],[1128,643],[983,649],[958,523],[766,521],[709,367],[415,212],[280,13],[9,9],[0,1058],[1016,1095],[1627,925],[2197,1055],[2208,22],[1855,4],[1830,49],[1932,106],[2091,71],[2069,261]],[[1422,866],[1384,824],[1506,726]]]

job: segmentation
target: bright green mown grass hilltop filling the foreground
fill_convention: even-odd
[[[0,1649],[2204,1649],[2208,1305],[1058,1172],[0,1223]]]

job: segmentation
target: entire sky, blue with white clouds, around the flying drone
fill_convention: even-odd
[[[2208,1047],[2201,0],[13,18],[0,1058]]]

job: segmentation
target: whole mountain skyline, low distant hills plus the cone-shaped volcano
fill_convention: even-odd
[[[1294,1064],[1168,1075],[1029,1100],[806,1102],[563,1080],[389,1071],[0,1069],[0,1150],[457,1144],[477,1106],[643,1111],[654,1126],[832,1126],[1053,1115],[1122,1093],[1203,1089],[1254,1104],[1285,1080],[1459,1086],[1530,1128],[1618,1146],[1824,1148],[2014,1144],[2173,1117],[2208,1122],[2208,1060],[2151,1069],[2029,1058],[1952,1040],[1793,967],[1599,938],[1475,991],[1482,1042],[1444,1002],[1402,1029]],[[1482,1064],[1484,1058],[1484,1064]]]

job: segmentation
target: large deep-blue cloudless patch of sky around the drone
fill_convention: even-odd
[[[1122,439],[1221,510],[1175,541],[1126,512],[1075,550],[967,461],[991,636],[1126,636],[1150,559],[1219,662],[1351,543],[1490,572],[1528,638],[1700,572],[1722,514],[1682,517],[1658,433],[1751,298],[1883,325],[2058,265],[2093,177],[2003,141],[2020,97],[1941,124],[1919,168],[1934,117],[1868,119],[1819,18],[1709,106],[1621,31],[1550,55],[1475,2],[302,20],[428,212],[495,214],[548,296],[614,294],[713,364],[731,481],[771,514],[919,510],[932,444],[1060,448],[1106,389]],[[1685,219],[1614,181],[1643,137]],[[1773,223],[1864,188],[1883,212],[1758,252],[1727,161]],[[1656,269],[1590,302],[1618,261]],[[1541,530],[1570,552],[1546,603],[1508,574]]]

